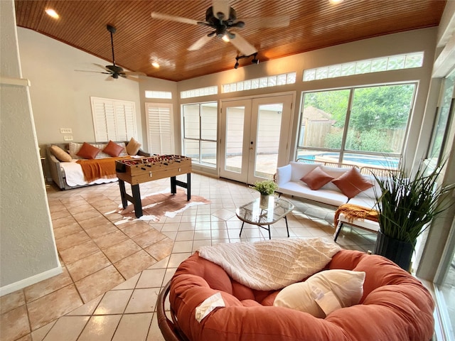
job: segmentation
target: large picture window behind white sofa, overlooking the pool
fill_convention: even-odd
[[[297,158],[396,168],[415,87],[408,83],[304,93]]]

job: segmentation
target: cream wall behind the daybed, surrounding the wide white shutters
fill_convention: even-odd
[[[102,72],[94,64],[112,63],[27,28],[18,28],[18,41],[23,77],[32,84],[31,104],[42,153],[43,144],[64,143],[65,135],[72,135],[75,142],[95,141],[90,96],[134,102],[136,139],[142,141],[138,82],[76,71]],[[71,128],[73,134],[61,134],[60,128]]]

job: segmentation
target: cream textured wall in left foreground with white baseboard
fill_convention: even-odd
[[[0,1],[1,77],[21,78],[14,2]],[[62,272],[28,88],[0,86],[0,296]]]

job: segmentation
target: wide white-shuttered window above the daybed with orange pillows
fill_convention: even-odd
[[[95,141],[129,141],[137,137],[134,102],[90,97]]]

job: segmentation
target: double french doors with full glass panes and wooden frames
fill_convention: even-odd
[[[294,96],[222,100],[220,176],[243,183],[271,179],[287,163]]]

